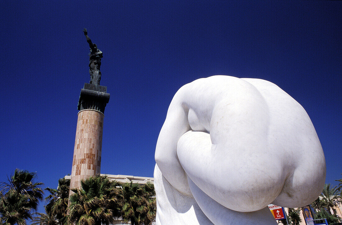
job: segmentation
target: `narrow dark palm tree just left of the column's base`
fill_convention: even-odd
[[[55,216],[61,225],[67,224],[67,208],[69,201],[70,180],[61,178],[58,180],[57,189],[45,188],[50,195],[45,198],[49,203],[45,206],[45,210],[49,216]]]

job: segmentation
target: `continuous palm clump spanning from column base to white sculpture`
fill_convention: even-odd
[[[155,191],[151,183],[121,184],[97,176],[81,181],[81,188],[71,191],[74,194],[69,198],[70,224],[109,224],[114,218],[122,217],[132,225],[150,225],[156,216]]]

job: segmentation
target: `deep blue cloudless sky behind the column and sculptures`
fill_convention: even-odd
[[[108,87],[102,173],[153,176],[159,130],[175,92],[216,74],[277,84],[307,111],[327,183],[341,154],[341,21],[335,1],[2,1],[1,173],[71,173],[89,45]]]

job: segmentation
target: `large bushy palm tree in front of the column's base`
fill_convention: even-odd
[[[68,222],[76,225],[109,224],[119,216],[119,182],[108,177],[90,177],[81,181],[81,188],[71,189]]]

